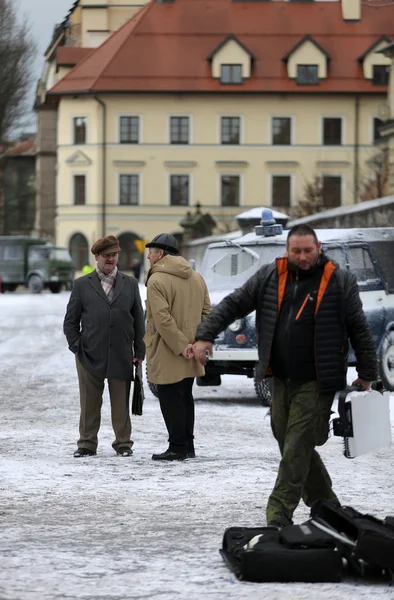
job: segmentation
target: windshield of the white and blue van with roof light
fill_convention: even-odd
[[[202,264],[201,275],[209,290],[240,287],[264,264],[283,256],[285,245],[261,244],[248,246],[247,252],[239,246],[208,248]]]

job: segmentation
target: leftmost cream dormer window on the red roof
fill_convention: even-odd
[[[254,55],[233,34],[227,36],[207,57],[214,79],[227,85],[242,84],[252,72]]]

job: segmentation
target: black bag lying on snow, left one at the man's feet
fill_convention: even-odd
[[[342,557],[332,536],[310,523],[230,527],[220,553],[238,579],[256,582],[338,582]]]

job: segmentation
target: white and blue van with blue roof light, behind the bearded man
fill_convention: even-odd
[[[285,252],[288,232],[280,226],[260,229],[233,240],[210,244],[201,267],[212,304],[218,304],[235,288],[242,286],[263,264]],[[265,231],[264,231],[265,230]],[[269,232],[269,235],[264,233]],[[275,233],[272,235],[272,233]],[[357,277],[361,300],[376,343],[380,377],[394,390],[394,228],[320,229],[316,231],[327,255]],[[237,319],[216,339],[206,375],[198,385],[220,385],[221,375],[254,378],[256,394],[269,406],[270,379],[255,376],[257,364],[255,313]],[[355,365],[352,348],[349,365]]]

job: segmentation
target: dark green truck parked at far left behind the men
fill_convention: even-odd
[[[58,294],[71,289],[75,266],[67,248],[27,236],[0,236],[1,292],[14,292],[19,285],[33,294],[49,289]]]

